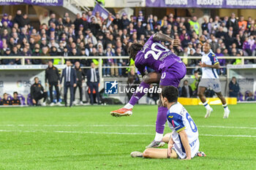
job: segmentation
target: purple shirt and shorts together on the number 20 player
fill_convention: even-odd
[[[154,41],[153,35],[137,53],[135,66],[140,73],[144,72],[145,66],[154,69],[162,74],[160,85],[173,85],[176,88],[187,72],[181,58],[161,45],[161,42]]]

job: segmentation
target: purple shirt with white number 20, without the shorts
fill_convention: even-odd
[[[139,72],[143,72],[145,66],[148,66],[155,72],[162,73],[176,62],[181,63],[181,58],[161,45],[161,42],[154,41],[153,35],[150,36],[135,58],[135,66]]]

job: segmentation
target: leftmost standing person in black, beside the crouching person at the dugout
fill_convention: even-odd
[[[53,106],[53,86],[56,90],[56,104],[61,106],[59,102],[59,70],[53,66],[53,61],[48,61],[48,68],[45,69],[45,87],[49,83],[50,90],[50,106]]]

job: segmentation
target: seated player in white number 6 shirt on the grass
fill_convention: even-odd
[[[173,86],[162,88],[161,101],[167,107],[167,123],[170,134],[167,149],[148,148],[144,152],[132,152],[131,156],[143,158],[180,158],[189,160],[199,155],[197,125],[187,110],[178,103],[178,89]],[[203,155],[205,155],[203,153]]]

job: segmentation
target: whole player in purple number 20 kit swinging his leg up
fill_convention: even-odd
[[[159,83],[160,88],[167,85],[173,85],[177,88],[187,72],[186,66],[181,59],[164,47],[161,41],[170,42],[173,46],[179,45],[178,39],[171,39],[165,34],[157,33],[152,35],[144,46],[133,43],[128,49],[129,57],[135,61],[135,66],[143,76],[143,81],[140,83],[139,88],[149,88],[151,83]],[[146,66],[154,69],[155,72],[147,74],[145,72]],[[110,114],[116,117],[132,115],[132,108],[144,95],[143,90],[134,93],[128,104],[121,109],[110,112]],[[162,147],[165,144],[165,142],[162,142],[162,136],[167,120],[166,115],[167,108],[163,107],[162,102],[159,100],[156,136],[154,141],[148,144],[146,148]]]

